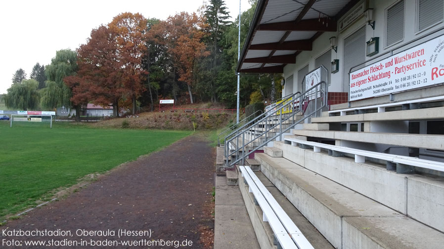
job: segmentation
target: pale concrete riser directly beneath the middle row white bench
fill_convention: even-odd
[[[444,232],[444,178],[396,174],[385,164],[355,163],[354,158],[332,157],[283,142],[274,142],[290,160],[316,174]]]

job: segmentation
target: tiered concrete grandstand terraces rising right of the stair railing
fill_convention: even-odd
[[[395,132],[408,120],[443,117],[442,108],[344,116],[323,112],[284,138],[369,151],[377,151],[378,145],[443,151],[443,135]],[[362,122],[363,132],[337,130],[348,122]],[[386,131],[376,132],[381,127],[387,127]],[[313,237],[310,229],[303,232],[311,237],[314,248],[444,249],[443,172],[415,169],[412,174],[397,174],[387,170],[383,161],[366,158],[357,163],[347,153],[329,155],[328,151],[314,152],[310,146],[295,145],[275,141],[246,164],[260,168],[257,176],[298,227],[307,219],[318,231]],[[275,248],[270,228],[261,219],[262,211],[255,206],[241,174],[237,176],[259,245]],[[314,246],[316,241],[326,244]]]

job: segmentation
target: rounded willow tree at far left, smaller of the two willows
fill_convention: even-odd
[[[35,110],[39,107],[39,82],[35,79],[24,79],[12,84],[5,95],[4,104],[18,110]]]

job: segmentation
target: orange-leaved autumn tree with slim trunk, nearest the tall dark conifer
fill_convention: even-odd
[[[205,27],[202,17],[181,12],[153,25],[148,36],[168,47],[175,74],[177,71],[178,80],[186,83],[191,103],[194,103],[191,89],[196,83],[198,64],[210,55],[203,41]]]

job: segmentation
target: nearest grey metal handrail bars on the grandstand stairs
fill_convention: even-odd
[[[295,97],[296,94],[293,95],[293,97]],[[301,119],[295,121],[294,116],[296,115],[297,112],[299,111],[304,111],[303,105],[309,105],[311,102],[311,98],[314,95],[314,110],[311,110],[310,113],[305,113],[304,117],[302,117]],[[263,147],[264,145],[266,145],[268,142],[273,141],[274,139],[276,139],[277,137],[280,137],[280,140],[282,141],[282,133],[287,132],[288,130],[292,129],[293,127],[295,127],[297,124],[301,123],[302,121],[306,120],[307,118],[311,118],[311,116],[314,114],[314,116],[317,116],[317,113],[321,111],[322,108],[327,106],[327,98],[328,98],[328,85],[325,81],[321,81],[318,84],[312,86],[310,89],[306,90],[304,93],[300,94],[297,98],[294,98],[290,103],[287,103],[286,105],[282,105],[280,108],[275,108],[273,112],[265,115],[265,117],[263,117],[262,119],[260,119],[259,121],[257,121],[255,124],[249,126],[248,128],[244,129],[242,132],[236,134],[236,136],[230,138],[229,140],[225,141],[225,148],[227,148],[228,144],[230,142],[233,142],[234,140],[236,140],[236,149],[232,152],[232,153],[228,153],[228,150],[225,149],[225,157],[226,157],[226,166],[231,167],[234,164],[242,161],[242,164],[244,163],[244,159],[246,157],[248,157],[250,154],[254,153],[256,150],[258,150],[259,148]],[[297,102],[295,100],[298,100]],[[318,100],[321,101],[321,103],[319,104],[319,107],[317,105]],[[298,109],[295,107],[295,103],[297,103],[298,105]],[[287,115],[287,117],[285,117],[284,119],[282,118],[282,113],[284,111],[284,109],[287,109],[287,106],[291,107],[291,114]],[[298,111],[296,111],[298,110]],[[269,117],[271,116],[279,116],[279,122],[269,128],[267,128],[267,120],[269,119]],[[290,118],[293,118],[293,124],[290,125],[289,127],[282,129],[282,122],[285,122],[287,120],[289,120]],[[265,131],[260,133],[259,135],[253,134],[254,137],[252,137],[251,139],[249,139],[249,142],[246,142],[246,136],[250,136],[251,137],[251,130],[253,130],[253,128],[256,125],[264,125],[265,122]],[[279,128],[279,133],[267,138],[267,133],[270,132],[272,129],[276,128],[277,126],[280,126]],[[254,129],[256,131],[256,129]],[[248,134],[247,134],[248,133]],[[245,147],[248,146],[249,144],[252,144],[255,140],[263,137],[265,135],[265,142],[260,143],[257,146],[253,146],[254,148],[248,152],[245,153]],[[239,146],[239,140],[242,141],[242,146]],[[233,142],[234,143],[234,142]],[[239,158],[239,150],[242,148],[242,156]],[[228,158],[232,155],[235,155],[235,160],[231,163],[228,163]]]

